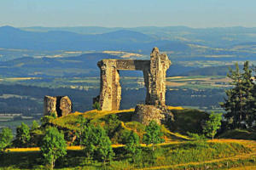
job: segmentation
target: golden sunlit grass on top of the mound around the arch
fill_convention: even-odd
[[[168,110],[171,111],[185,111],[183,107],[179,106],[167,106]],[[119,130],[116,132],[116,134],[113,135],[113,143],[119,143],[121,139],[119,139],[119,135],[123,135],[124,133],[127,133],[127,131],[134,131],[136,132],[142,142],[143,139],[143,133],[145,130],[145,126],[141,124],[140,122],[132,122],[132,115],[134,114],[134,109],[130,110],[122,110],[122,111],[86,111],[84,113],[81,112],[74,112],[68,116],[58,117],[54,120],[51,120],[51,123],[54,124],[57,127],[61,128],[67,128],[73,131],[79,130],[79,126],[77,126],[78,117],[84,116],[85,118],[88,118],[91,120],[91,122],[94,122],[96,124],[100,124],[101,126],[104,126],[105,120],[104,118],[110,115],[116,115],[118,116],[118,119],[120,121],[120,127]],[[161,127],[162,132],[164,133],[164,138],[166,141],[180,141],[180,140],[188,140],[189,138],[180,134],[180,133],[172,133],[169,131],[169,129],[165,126]]]

